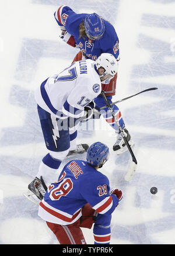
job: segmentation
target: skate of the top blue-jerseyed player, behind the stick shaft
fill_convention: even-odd
[[[134,142],[131,140],[131,136],[126,128],[123,130],[125,137],[131,147],[134,146]],[[118,134],[117,141],[115,142],[113,146],[113,150],[116,151],[117,155],[120,155],[128,150],[127,145],[125,144],[125,141],[121,135],[121,133]]]

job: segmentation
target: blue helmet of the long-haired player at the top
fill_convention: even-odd
[[[104,21],[97,13],[86,15],[85,30],[89,39],[99,40],[104,34]]]

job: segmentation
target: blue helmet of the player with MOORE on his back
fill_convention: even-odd
[[[97,141],[93,143],[87,151],[86,160],[88,164],[97,166],[99,165],[99,168],[103,166],[104,162],[108,160],[109,157],[109,149],[108,147]],[[105,160],[103,162],[103,160]]]

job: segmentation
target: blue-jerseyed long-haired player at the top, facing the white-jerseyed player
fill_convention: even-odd
[[[69,6],[62,5],[54,13],[54,16],[61,28],[61,39],[70,46],[78,47],[81,50],[76,54],[74,61],[82,60],[84,56],[91,60],[96,60],[101,53],[113,54],[117,61],[120,60],[117,33],[115,32],[113,25],[101,18],[97,13],[75,13]],[[106,96],[110,103],[112,102],[112,96],[115,95],[116,81],[117,74],[115,74],[113,78],[101,82],[101,88],[106,92]],[[101,95],[97,96],[94,102],[97,110],[100,110],[101,107],[106,105],[106,102]],[[108,111],[108,108],[104,108],[103,110],[101,115],[117,134],[117,140],[114,143],[113,150],[116,154],[122,154],[127,151],[128,148],[111,112]],[[120,109],[114,105],[113,110],[132,147],[134,143],[131,140],[128,130],[125,128]]]

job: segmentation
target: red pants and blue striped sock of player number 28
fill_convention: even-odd
[[[111,215],[100,215],[89,204],[83,206],[82,217],[75,223],[64,226],[47,222],[47,226],[60,244],[86,244],[81,227],[91,229],[93,223],[94,244],[109,244]]]

